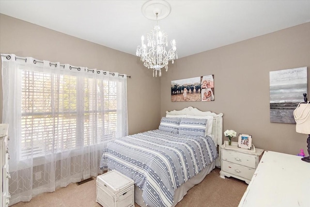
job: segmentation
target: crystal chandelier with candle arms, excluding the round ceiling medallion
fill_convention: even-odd
[[[160,30],[157,15],[158,13],[156,13],[154,29],[146,35],[147,45],[144,44],[144,36],[142,35],[141,46],[138,46],[136,52],[144,66],[153,69],[153,77],[154,75],[157,77],[157,72],[158,76],[161,77],[161,68],[165,67],[166,71],[168,71],[169,61],[173,64],[174,59],[178,58],[174,39],[170,42],[171,49],[168,52],[166,50],[168,47],[168,34]]]

